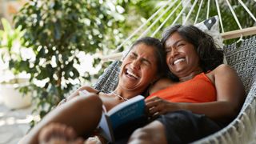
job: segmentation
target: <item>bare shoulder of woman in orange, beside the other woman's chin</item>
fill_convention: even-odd
[[[155,82],[153,86],[150,87],[150,94],[157,92],[158,90],[165,89],[172,84],[174,84],[174,82],[169,78],[161,78],[157,82]]]

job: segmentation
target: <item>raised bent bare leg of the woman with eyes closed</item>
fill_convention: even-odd
[[[72,98],[47,114],[20,143],[38,143],[38,134],[52,122],[70,126],[79,137],[91,134],[102,116],[102,100],[96,94]]]

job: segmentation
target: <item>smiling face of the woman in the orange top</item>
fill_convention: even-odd
[[[194,71],[201,70],[199,57],[194,46],[187,42],[178,32],[171,34],[165,42],[166,63],[170,71],[178,78],[186,77]]]

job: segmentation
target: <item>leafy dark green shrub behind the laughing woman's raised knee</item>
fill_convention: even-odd
[[[120,42],[122,14],[111,3],[90,0],[33,0],[14,17],[15,26],[25,30],[27,46],[34,60],[11,60],[10,66],[31,75],[29,90],[34,90],[36,111],[42,118],[74,89],[73,80],[90,80],[90,74],[79,74],[78,54],[94,54]],[[115,40],[115,41],[114,41]],[[99,62],[95,60],[95,65]],[[38,85],[38,82],[44,82]],[[79,83],[78,83],[79,84]]]

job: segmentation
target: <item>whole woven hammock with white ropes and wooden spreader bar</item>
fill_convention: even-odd
[[[200,6],[198,8],[198,14],[202,6],[202,1],[203,0],[201,0]],[[178,0],[175,0],[174,2],[172,2],[171,0],[169,2],[166,2],[170,5],[166,8],[166,10],[164,10],[163,13],[166,14],[166,11],[170,10],[170,7],[174,6],[176,2],[178,2]],[[186,6],[188,6],[189,2],[190,2],[189,0],[182,0],[178,4],[178,6],[183,5],[183,9],[182,9],[183,11],[185,10]],[[194,9],[194,6],[197,4],[197,2],[198,0],[195,0],[194,4],[190,6],[190,11],[186,16],[185,21],[183,21],[183,24],[186,24],[186,21],[188,20],[191,14],[191,11]],[[222,24],[222,15],[220,13],[219,6],[218,6],[218,0],[215,0],[215,2],[218,10],[218,18],[220,19],[220,24],[222,28],[222,34],[221,34],[222,38],[231,39],[231,38],[240,37],[240,40],[241,40],[243,36],[256,34],[256,26],[242,29],[242,26],[240,25],[238,18],[234,14],[234,10],[232,9],[232,6],[230,6],[230,3],[228,0],[226,0],[226,3],[230,7],[230,11],[233,14],[234,19],[237,22],[240,30],[233,30],[225,33],[223,24]],[[238,0],[238,2],[243,6],[246,12],[250,14],[250,17],[253,18],[254,21],[256,22],[256,18],[250,12],[250,10],[245,6],[245,4],[241,0]],[[167,4],[165,6],[167,6]],[[122,42],[120,46],[118,46],[117,50],[119,50],[122,46],[124,46],[126,42],[129,42],[130,38],[134,37],[134,35],[137,34],[138,31],[141,30],[143,26],[146,26],[146,23],[150,22],[150,20],[152,20],[159,13],[159,11],[163,10],[165,6],[162,6],[144,24],[142,24],[142,26],[140,26],[137,30],[135,30],[134,33],[131,34],[129,38],[126,38],[126,40]],[[175,8],[175,10],[178,9],[178,6]],[[207,6],[208,6],[207,18],[209,18],[210,0],[208,0]],[[168,17],[166,18],[166,21],[168,18],[170,18],[171,14],[173,13],[174,13],[174,10],[168,15]],[[182,12],[180,13],[180,15],[181,14]],[[197,22],[198,14],[197,14],[197,17],[195,18],[194,24]],[[158,21],[159,18],[162,17],[162,15],[163,14],[161,14],[156,19],[156,21]],[[173,24],[177,21],[177,19],[178,18],[175,18]],[[156,21],[152,22],[152,24],[148,26],[148,28],[144,30],[143,34],[141,34],[138,38],[145,36],[150,30],[150,28],[154,26]],[[161,27],[166,21],[162,22],[162,25],[159,26],[158,29],[155,30],[154,33],[151,34],[150,36],[154,37],[154,34],[156,34],[158,30],[161,29]],[[216,132],[215,134],[211,134],[210,136],[206,138],[202,138],[201,140],[198,140],[194,143],[232,143],[232,144],[238,143],[240,144],[240,143],[256,142],[256,36],[242,40],[242,43],[240,46],[237,45],[237,42],[234,42],[233,44],[230,44],[228,46],[224,46],[223,50],[226,55],[227,64],[232,66],[234,70],[237,71],[239,78],[241,78],[242,80],[243,86],[245,86],[246,95],[247,95],[246,101],[242,106],[242,110],[240,110],[240,113],[234,119],[233,122],[230,122],[228,126]],[[110,54],[102,58],[103,61],[114,60],[114,62],[112,62],[110,66],[106,68],[105,72],[98,79],[98,82],[96,82],[96,84],[94,85],[94,87],[97,90],[102,90],[102,92],[110,93],[117,86],[118,73],[120,71],[119,66],[121,64],[121,61],[120,61],[121,57],[122,57],[122,53],[116,53],[116,54]]]

